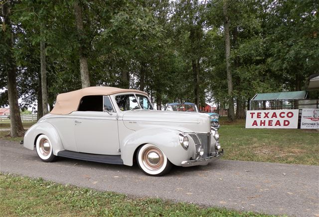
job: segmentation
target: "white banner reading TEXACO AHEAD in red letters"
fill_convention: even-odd
[[[297,129],[298,113],[298,109],[248,110],[246,128]]]

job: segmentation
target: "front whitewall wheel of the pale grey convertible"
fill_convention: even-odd
[[[141,146],[136,158],[140,169],[150,176],[164,175],[172,166],[160,148],[152,144]]]

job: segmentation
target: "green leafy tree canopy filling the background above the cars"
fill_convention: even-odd
[[[50,108],[58,93],[83,86],[83,58],[91,86],[144,90],[158,109],[175,101],[227,108],[231,97],[237,118],[257,92],[302,90],[319,69],[318,0],[5,0],[1,7],[4,2],[11,24],[2,13],[0,88],[7,89],[12,54],[20,108],[42,112],[34,104],[42,101],[41,41]],[[4,43],[8,28],[12,47]]]

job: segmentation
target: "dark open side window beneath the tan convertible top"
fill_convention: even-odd
[[[78,111],[103,111],[103,96],[83,96]]]

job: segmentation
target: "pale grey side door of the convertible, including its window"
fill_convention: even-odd
[[[76,112],[74,136],[77,149],[84,153],[119,155],[118,120],[114,106],[109,96],[94,97],[96,99],[84,102],[82,109],[80,104]]]

